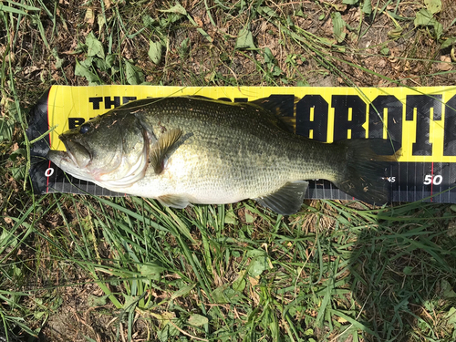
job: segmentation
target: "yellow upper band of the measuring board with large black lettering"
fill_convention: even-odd
[[[456,120],[456,87],[305,88],[53,86],[48,96],[51,149],[65,150],[58,134],[139,98],[198,95],[232,101],[288,96],[299,99],[293,118],[296,133],[332,142],[350,138],[396,140],[400,162],[456,162],[448,126]],[[456,121],[455,121],[456,122]],[[304,128],[304,126],[306,126]],[[380,127],[380,129],[379,129]]]

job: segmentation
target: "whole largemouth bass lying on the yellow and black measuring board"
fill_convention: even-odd
[[[375,153],[376,140],[327,144],[295,135],[275,113],[283,106],[268,98],[140,99],[67,130],[59,136],[67,151],[48,158],[81,180],[175,208],[255,199],[291,214],[314,179],[365,202],[389,201],[384,161],[395,155]],[[390,145],[381,149],[391,154]]]

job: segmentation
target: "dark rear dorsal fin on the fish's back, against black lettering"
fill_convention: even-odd
[[[271,95],[269,98],[258,98],[252,101],[275,115],[277,125],[284,130],[295,132],[295,104],[298,101],[294,95]]]

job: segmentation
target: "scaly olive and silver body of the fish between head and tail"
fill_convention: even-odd
[[[153,181],[154,189],[188,193],[193,202],[238,202],[274,192],[287,181],[334,180],[331,173],[337,172],[330,167],[340,153],[329,149],[328,154],[329,145],[280,129],[275,117],[257,106],[163,99],[136,116],[153,128],[156,137],[163,130],[183,132],[168,170],[155,175],[149,169],[131,189],[138,188],[141,196],[148,194],[141,189]]]

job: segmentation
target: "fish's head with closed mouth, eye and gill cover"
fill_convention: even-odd
[[[139,119],[112,111],[59,136],[66,151],[47,157],[60,169],[85,181],[122,191],[144,177],[149,139]]]

